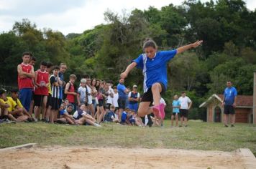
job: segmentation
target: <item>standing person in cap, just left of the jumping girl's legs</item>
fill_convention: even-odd
[[[134,110],[137,112],[138,110],[138,102],[140,100],[140,93],[137,92],[137,85],[134,84],[132,87],[132,91],[128,94],[128,100],[129,100],[129,109]]]

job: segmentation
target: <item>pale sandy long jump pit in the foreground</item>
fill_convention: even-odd
[[[249,153],[248,153],[249,152]],[[250,150],[234,152],[51,147],[0,151],[0,168],[255,168]]]

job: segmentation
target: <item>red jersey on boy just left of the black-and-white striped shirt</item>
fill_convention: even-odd
[[[47,84],[49,83],[49,73],[41,72],[40,69],[37,70],[37,84]],[[35,88],[35,95],[48,95],[48,87],[37,87]]]

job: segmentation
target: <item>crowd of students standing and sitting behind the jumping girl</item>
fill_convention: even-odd
[[[11,90],[10,97],[6,97],[6,91],[0,89],[0,122],[44,121],[96,127],[101,127],[101,122],[117,122],[144,127],[148,120],[150,127],[163,125],[163,120],[154,115],[138,117],[140,93],[137,92],[136,84],[130,90],[124,86],[124,79],[113,86],[111,81],[91,79],[87,74],[79,82],[76,82],[78,79],[75,74],[70,74],[65,82],[66,64],[58,66],[42,61],[40,69],[34,71],[35,62],[30,52],[24,52],[22,63],[17,66],[19,89]],[[186,101],[191,102],[189,98]],[[163,98],[160,103],[166,105]],[[186,122],[187,112],[184,111],[180,109],[178,96],[175,96],[172,125],[173,117],[176,117],[178,125],[179,112]]]

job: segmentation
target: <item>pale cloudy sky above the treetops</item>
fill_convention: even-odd
[[[208,0],[201,0],[205,2]],[[245,0],[247,8],[254,11],[256,0]],[[133,9],[148,9],[155,6],[174,4],[178,6],[183,0],[0,0],[0,33],[12,29],[15,21],[29,19],[38,29],[50,28],[54,31],[82,33],[99,24],[106,24],[104,11],[118,14]]]

